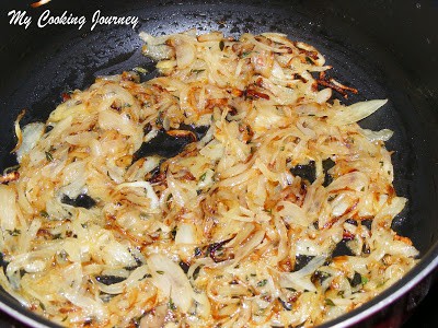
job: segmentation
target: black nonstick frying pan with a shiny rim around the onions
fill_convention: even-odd
[[[140,54],[139,31],[152,35],[198,28],[239,36],[244,32],[281,32],[315,46],[332,65],[332,75],[359,90],[339,98],[349,104],[389,98],[384,108],[361,121],[371,129],[389,128],[399,195],[410,199],[393,229],[420,251],[419,263],[381,295],[323,327],[396,327],[429,290],[438,266],[438,1],[66,1],[39,8],[28,1],[1,2],[0,167],[14,164],[10,154],[12,126],[45,120],[68,90],[85,89],[97,75],[115,74],[153,62]],[[48,25],[36,20],[45,10],[85,16],[78,25]],[[8,12],[25,10],[28,28],[11,25]],[[135,28],[97,25],[91,16],[136,15]],[[56,327],[30,313],[0,290],[0,308],[34,327]]]

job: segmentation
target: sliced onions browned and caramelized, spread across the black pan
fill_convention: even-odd
[[[0,177],[0,284],[78,327],[312,327],[417,262],[392,220],[385,99],[284,34],[140,33],[160,77],[74,91]],[[316,74],[319,74],[316,77]]]

